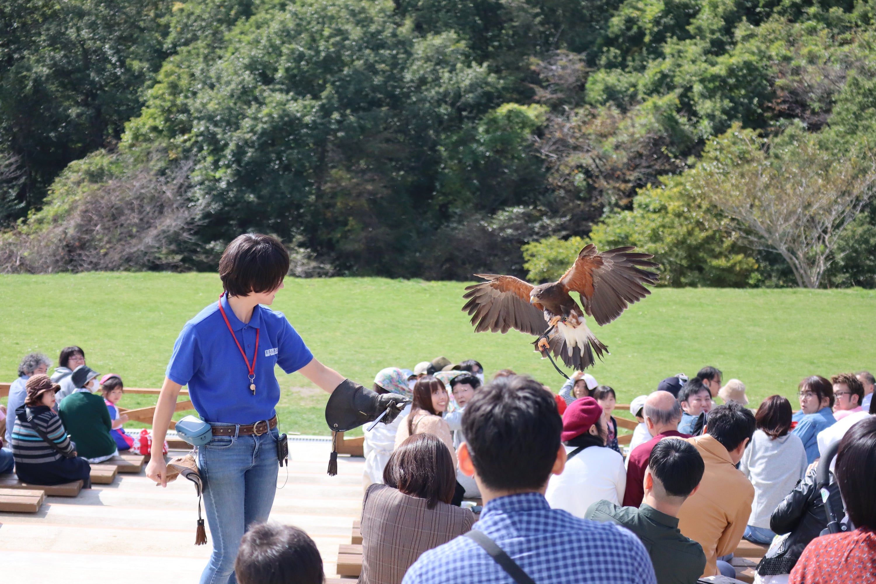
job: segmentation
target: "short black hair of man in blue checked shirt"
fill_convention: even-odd
[[[477,391],[463,412],[471,461],[491,489],[540,489],[560,449],[562,418],[541,383],[506,376]]]

